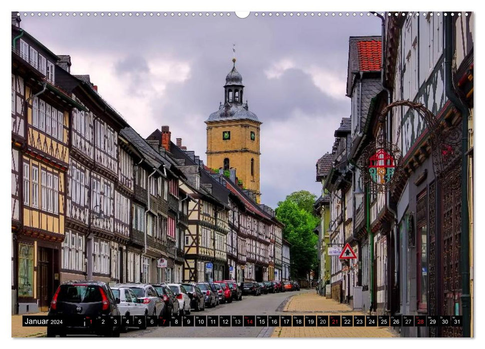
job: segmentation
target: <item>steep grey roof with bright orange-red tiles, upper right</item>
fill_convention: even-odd
[[[351,36],[347,72],[347,96],[351,95],[355,73],[381,71],[381,36]]]

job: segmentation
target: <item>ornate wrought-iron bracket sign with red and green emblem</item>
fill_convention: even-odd
[[[451,185],[459,183],[462,130],[439,122],[423,104],[409,100],[393,102],[382,110],[378,120],[381,131],[375,142],[364,148],[357,162],[363,181],[374,192],[385,192],[392,191],[395,183],[404,176],[402,152],[396,144],[386,140],[385,128],[382,127],[391,109],[399,106],[415,110],[424,120],[430,137],[433,171],[436,177],[442,180],[446,176],[446,182]],[[397,139],[399,139],[401,128],[402,125],[398,128]]]

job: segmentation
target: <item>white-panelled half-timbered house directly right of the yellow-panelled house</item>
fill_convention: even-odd
[[[118,133],[127,123],[98,94],[89,75],[71,75],[70,65],[69,56],[60,56],[55,72],[62,88],[84,110],[71,113],[66,213],[69,238],[63,242],[61,279],[119,282],[126,273],[133,194],[133,160],[118,145]],[[82,256],[86,263],[81,262]]]

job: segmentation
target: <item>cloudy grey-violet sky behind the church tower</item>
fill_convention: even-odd
[[[273,207],[296,190],[320,194],[315,163],[350,115],[349,36],[381,32],[380,19],[366,15],[21,18],[54,53],[69,54],[71,73],[89,74],[140,135],[169,125],[204,162],[204,121],[223,100],[235,43],[244,99],[263,122],[262,202]]]

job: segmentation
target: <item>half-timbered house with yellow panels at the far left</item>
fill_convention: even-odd
[[[58,57],[12,13],[12,304],[47,311],[65,236],[69,112],[83,107],[57,82]]]

